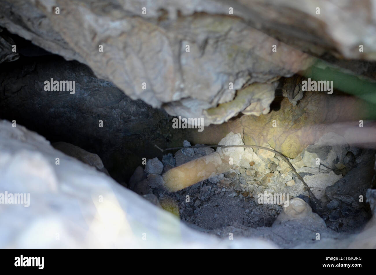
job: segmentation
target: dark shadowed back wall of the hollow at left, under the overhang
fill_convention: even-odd
[[[51,142],[68,142],[98,154],[120,183],[143,157],[160,154],[150,141],[166,147],[176,145],[174,138],[180,141],[182,131],[171,128],[165,111],[131,100],[76,61],[22,56],[1,66],[0,78],[0,118],[27,125]],[[75,93],[44,91],[44,81],[51,78],[76,81]]]

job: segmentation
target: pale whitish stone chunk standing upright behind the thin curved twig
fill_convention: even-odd
[[[243,140],[239,133],[234,134],[232,131],[226,135],[218,145],[244,145]],[[239,165],[240,160],[244,153],[244,148],[217,148],[217,153],[221,155],[221,158],[232,158],[233,165]],[[222,157],[223,156],[223,157]]]

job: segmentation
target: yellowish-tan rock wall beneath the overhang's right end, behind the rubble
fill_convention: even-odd
[[[331,108],[327,108],[327,106],[331,106]],[[305,96],[295,107],[292,107],[290,101],[284,98],[280,102],[280,109],[277,112],[270,112],[263,116],[242,116],[227,123],[229,125],[227,128],[234,133],[243,133],[244,130],[245,144],[259,146],[269,144],[277,152],[294,159],[307,146],[317,144],[321,136],[334,131],[339,137],[337,139],[333,135],[333,142],[336,144],[332,142],[332,145],[340,145],[341,150],[346,150],[348,144],[354,143],[357,139],[356,133],[358,132],[353,123],[346,122],[339,127],[332,125],[337,123],[339,118],[341,121],[353,121],[355,116],[364,117],[366,111],[362,106],[361,101],[353,98],[350,100],[350,98],[336,95],[305,92]],[[273,127],[273,125],[276,127]],[[348,128],[351,128],[350,134],[348,134],[346,140],[343,140],[341,136]],[[211,127],[211,129],[218,129],[218,134],[223,135],[223,128]],[[321,144],[321,147],[325,145],[329,145],[329,143],[325,142]],[[336,149],[333,152],[339,153]],[[309,165],[309,167],[312,166]]]

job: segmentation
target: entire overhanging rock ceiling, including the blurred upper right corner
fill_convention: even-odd
[[[132,99],[205,125],[268,113],[275,81],[315,62],[306,53],[376,57],[372,1],[356,9],[321,0],[1,3],[10,32],[90,66]]]

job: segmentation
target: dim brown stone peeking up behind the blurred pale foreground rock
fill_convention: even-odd
[[[67,142],[55,142],[52,146],[68,156],[75,157],[83,163],[94,166],[98,171],[109,175],[107,169],[103,166],[102,160],[97,154],[89,153],[88,151]]]

